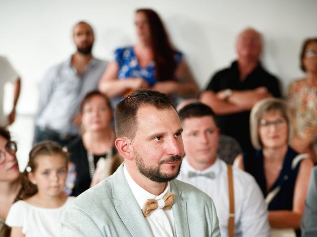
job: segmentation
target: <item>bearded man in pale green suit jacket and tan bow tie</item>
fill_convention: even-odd
[[[211,198],[175,180],[184,156],[172,101],[138,90],[115,112],[115,146],[125,161],[62,215],[65,237],[218,237]]]

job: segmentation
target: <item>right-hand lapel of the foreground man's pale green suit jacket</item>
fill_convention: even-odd
[[[177,188],[173,181],[170,181],[170,190],[175,193],[175,200],[172,206],[175,226],[175,237],[189,236],[189,226],[187,220],[187,202],[181,198],[181,190]]]

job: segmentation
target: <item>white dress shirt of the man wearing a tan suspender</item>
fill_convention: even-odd
[[[235,237],[268,237],[269,225],[267,206],[263,194],[255,179],[248,173],[232,167],[234,186],[234,236]],[[205,174],[213,172],[214,178],[202,175],[188,177],[189,172]],[[178,179],[194,185],[208,194],[216,207],[222,237],[228,236],[229,194],[226,163],[217,158],[203,171],[192,167],[186,158],[183,159]]]

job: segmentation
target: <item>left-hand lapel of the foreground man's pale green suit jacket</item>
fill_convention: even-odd
[[[115,209],[132,236],[153,237],[123,173],[123,163],[112,175],[111,186]]]

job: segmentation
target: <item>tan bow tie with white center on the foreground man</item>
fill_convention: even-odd
[[[147,199],[143,205],[142,213],[145,217],[151,215],[156,209],[170,210],[174,204],[174,193],[165,195],[162,199]]]

